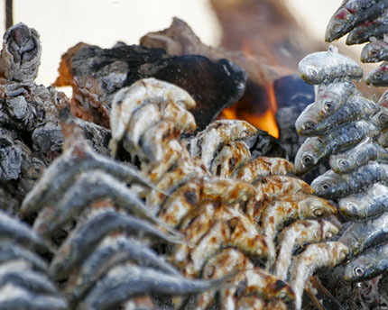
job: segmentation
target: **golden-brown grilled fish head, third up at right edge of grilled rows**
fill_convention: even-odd
[[[337,213],[337,207],[318,196],[306,196],[298,202],[303,218],[319,218]]]

